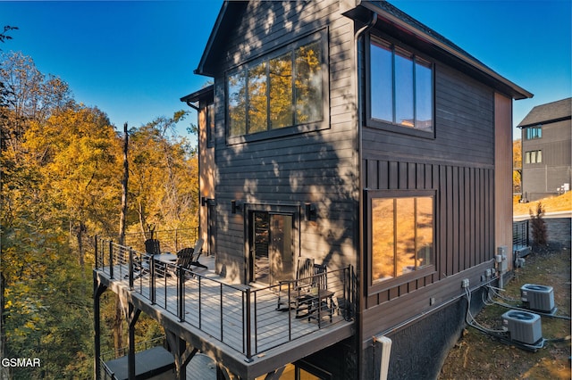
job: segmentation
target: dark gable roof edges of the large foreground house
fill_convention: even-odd
[[[346,2],[351,4],[349,5],[350,9],[343,13],[347,17],[366,22],[366,20],[370,19],[371,13],[376,13],[378,18],[383,20],[383,28],[391,29],[400,37],[404,37],[406,40],[409,39],[410,42],[414,42],[413,40],[415,39],[416,43],[424,45],[425,50],[429,50],[430,53],[442,59],[443,62],[458,67],[459,70],[493,88],[497,88],[514,99],[526,99],[534,96],[509,79],[502,77],[484,65],[483,62],[478,61],[475,57],[458,47],[458,45],[453,44],[449,39],[423,23],[416,21],[387,1],[346,0]],[[217,49],[217,46],[224,43],[227,33],[235,27],[239,19],[236,15],[243,12],[247,5],[248,2],[246,1],[223,2],[195,74],[214,76],[214,66],[216,62],[220,61],[222,54],[222,49]],[[379,26],[379,24],[380,22],[377,22],[376,26]]]

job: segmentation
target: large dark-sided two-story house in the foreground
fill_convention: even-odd
[[[220,331],[187,324],[189,280],[177,322],[114,277],[111,244],[96,305],[112,288],[160,320],[180,374],[198,350],[229,378],[435,377],[467,291],[478,309],[511,269],[512,100],[532,95],[391,4],[357,0],[225,2],[196,73],[214,80],[181,98],[199,114],[200,234],[242,294],[242,338],[223,334],[225,285]],[[327,267],[329,320],[275,308],[301,258]],[[295,338],[302,326],[317,330]]]

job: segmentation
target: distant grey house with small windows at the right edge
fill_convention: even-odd
[[[570,190],[572,98],[535,106],[522,129],[522,200],[537,201]]]

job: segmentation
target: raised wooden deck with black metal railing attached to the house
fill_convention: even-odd
[[[324,306],[314,318],[296,318],[295,310],[279,308],[279,299],[290,304],[293,282],[262,288],[229,284],[214,273],[214,256],[201,257],[206,269],[190,271],[116,244],[98,246],[96,284],[241,377],[264,375],[354,334],[347,309],[349,268],[328,272],[332,316]],[[146,262],[150,265],[140,265]]]

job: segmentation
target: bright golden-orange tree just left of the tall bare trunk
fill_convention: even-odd
[[[42,190],[76,236],[81,268],[83,235],[110,231],[119,215],[120,143],[105,113],[85,106],[32,122],[25,135],[23,147],[37,165]]]

